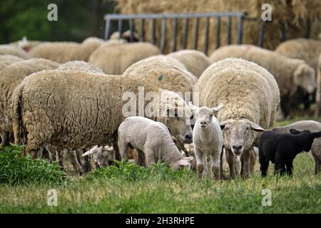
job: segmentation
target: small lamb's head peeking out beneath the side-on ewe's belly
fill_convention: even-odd
[[[98,163],[99,167],[107,167],[111,165],[114,159],[113,147],[98,147],[97,145],[85,152],[82,156],[93,155],[93,159]]]

